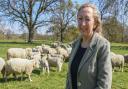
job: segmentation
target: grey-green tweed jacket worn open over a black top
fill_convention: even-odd
[[[81,43],[79,37],[73,44],[70,54],[66,80],[66,89],[72,89],[70,67],[76,51]],[[78,89],[111,89],[112,65],[110,59],[110,43],[98,33],[94,33],[77,72]]]

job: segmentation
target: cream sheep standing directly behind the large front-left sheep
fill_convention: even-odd
[[[7,51],[7,59],[10,58],[27,58],[30,59],[32,55],[32,49],[31,48],[9,48]]]

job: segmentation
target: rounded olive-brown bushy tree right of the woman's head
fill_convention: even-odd
[[[110,41],[122,41],[122,23],[115,16],[108,17],[103,23],[104,36]]]

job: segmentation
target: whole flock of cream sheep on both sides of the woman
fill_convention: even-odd
[[[68,61],[71,53],[71,44],[52,43],[50,46],[42,44],[35,48],[9,48],[7,50],[7,61],[0,57],[0,71],[5,81],[10,74],[17,79],[17,74],[21,74],[21,80],[26,74],[29,81],[30,75],[35,68],[40,68],[43,74],[49,75],[50,67],[56,67],[60,72],[64,61]],[[124,63],[128,63],[128,55],[110,53],[113,71],[119,67],[123,72]]]

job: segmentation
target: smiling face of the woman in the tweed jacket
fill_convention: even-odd
[[[83,36],[90,36],[93,34],[94,16],[91,7],[85,7],[78,12],[77,15],[78,27]]]

